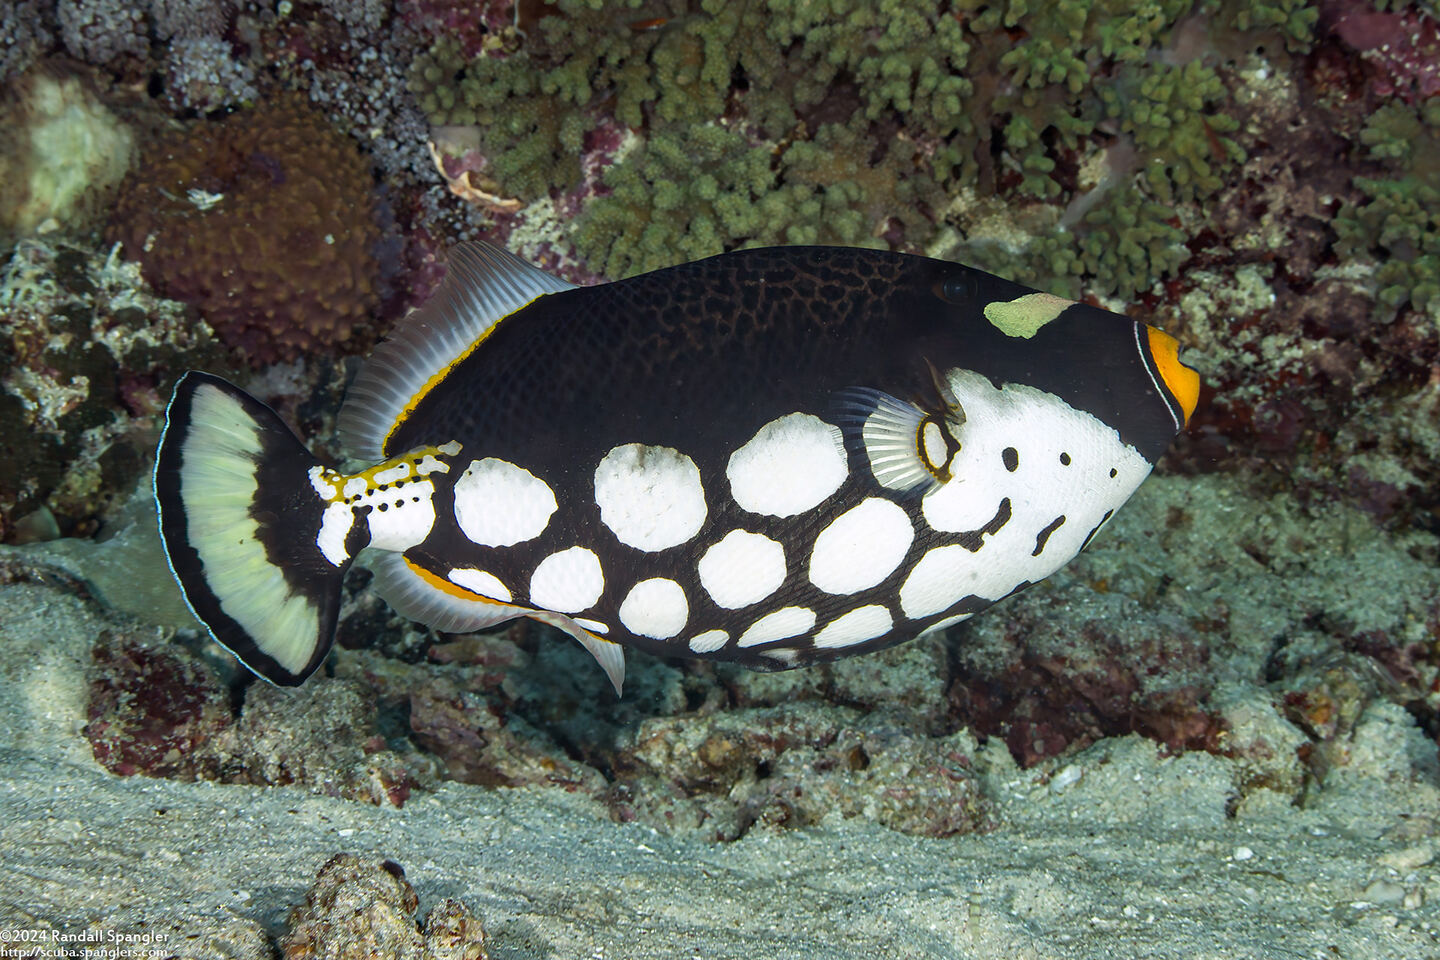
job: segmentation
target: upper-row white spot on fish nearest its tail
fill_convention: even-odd
[[[556,511],[550,486],[508,461],[471,461],[455,481],[455,522],[484,547],[511,547],[544,533]]]

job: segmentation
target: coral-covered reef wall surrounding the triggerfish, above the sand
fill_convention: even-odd
[[[442,779],[559,786],[708,839],[844,818],[945,836],[1001,819],[986,750],[1074,796],[1112,756],[1223,757],[1243,818],[1318,809],[1355,764],[1403,767],[1387,735],[1440,735],[1433,4],[16,9],[0,76],[68,52],[134,130],[184,127],[111,235],[194,307],[79,248],[19,248],[4,540],[101,527],[167,368],[222,368],[206,324],[251,364],[311,354],[262,391],[337,452],[336,354],[423,299],[462,237],[577,282],[760,243],[926,252],[1156,322],[1207,383],[1084,557],[945,639],[773,675],[632,658],[615,704],[553,632],[436,636],[361,573],[337,675],[301,695],[253,685],[232,714],[190,655],[99,648],[114,769],[395,806]],[[1153,746],[1112,743],[1129,734]]]

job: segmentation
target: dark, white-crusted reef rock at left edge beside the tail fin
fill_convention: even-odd
[[[190,364],[232,370],[210,328],[135,265],[22,242],[0,275],[0,541],[96,533],[147,471]]]

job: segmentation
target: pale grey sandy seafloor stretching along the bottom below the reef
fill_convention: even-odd
[[[1440,957],[1436,746],[1392,704],[1367,708],[1303,806],[1253,796],[1238,815],[1237,760],[1135,735],[1030,770],[992,740],[976,756],[996,826],[946,839],[837,815],[713,843],[540,787],[442,783],[395,809],[101,769],[79,734],[91,645],[135,622],[48,583],[48,564],[111,576],[76,556],[6,550],[0,927],[276,956],[317,871],[351,852],[402,865],[420,915],[464,901],[497,959]],[[158,610],[145,581],[125,604]]]

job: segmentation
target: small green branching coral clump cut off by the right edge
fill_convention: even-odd
[[[1335,219],[1336,250],[1380,261],[1382,314],[1410,304],[1440,322],[1440,99],[1418,111],[1400,102],[1381,107],[1361,142],[1397,176],[1355,180],[1368,201],[1345,204]]]

